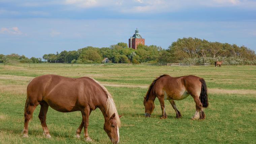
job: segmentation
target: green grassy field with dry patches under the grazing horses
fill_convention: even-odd
[[[74,137],[82,120],[81,113],[60,113],[51,108],[46,123],[52,138],[44,138],[37,117],[40,106],[29,123],[29,138],[22,138],[26,86],[31,79],[43,74],[89,76],[105,85],[114,97],[119,114],[124,115],[121,118],[120,144],[256,143],[256,66],[143,65],[0,65],[0,143],[86,143],[83,138]],[[152,80],[161,74],[196,75],[205,79],[210,103],[204,109],[205,120],[190,120],[195,113],[195,102],[191,96],[175,101],[182,114],[181,119],[175,118],[169,101],[165,101],[168,118],[160,120],[161,107],[157,99],[152,117],[144,117],[143,96]],[[104,118],[99,109],[93,111],[88,128],[89,136],[93,139],[91,143],[110,143],[103,124]]]

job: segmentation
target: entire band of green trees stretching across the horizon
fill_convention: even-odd
[[[108,58],[110,63],[214,63],[223,60],[227,64],[256,64],[256,54],[245,46],[209,42],[198,38],[182,38],[173,42],[168,49],[151,45],[138,45],[137,49],[128,48],[126,43],[110,47],[85,47],[77,51],[62,51],[44,54],[41,58],[27,58],[18,54],[0,55],[0,62],[18,60],[22,63],[101,63]]]

